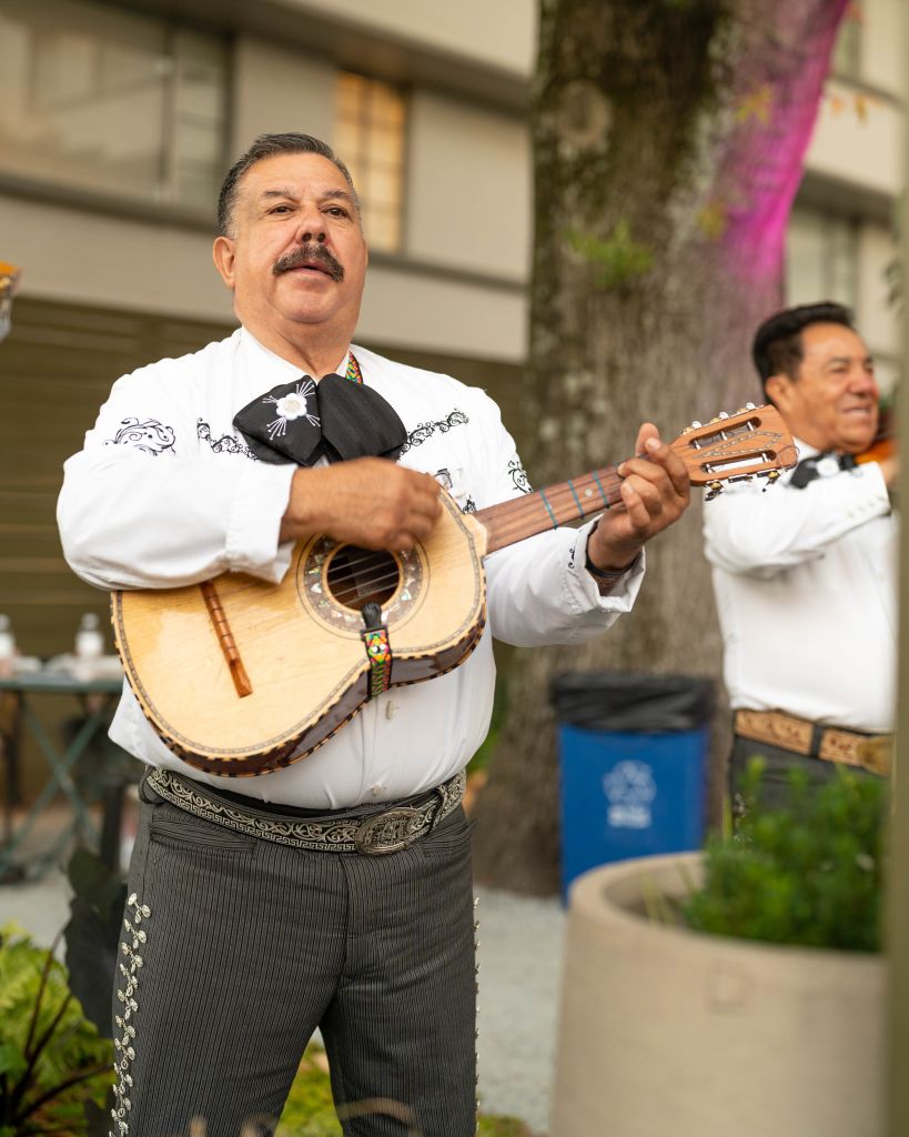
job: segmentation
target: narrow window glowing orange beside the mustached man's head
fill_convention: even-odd
[[[335,147],[362,202],[374,249],[401,248],[407,106],[389,83],[342,72],[337,77]]]

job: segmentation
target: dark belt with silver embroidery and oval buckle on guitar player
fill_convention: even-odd
[[[407,848],[447,818],[460,805],[467,775],[461,770],[435,789],[412,799],[407,798],[387,810],[372,813],[350,810],[335,816],[299,819],[227,802],[209,790],[208,786],[173,770],[151,770],[145,775],[145,782],[166,802],[216,825],[251,833],[278,845],[322,853],[378,856]]]

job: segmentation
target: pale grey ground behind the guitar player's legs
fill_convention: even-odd
[[[545,1134],[553,1073],[565,913],[558,899],[477,889],[479,1102],[486,1113]],[[0,926],[22,924],[52,943],[68,919],[69,888],[55,869],[41,880],[0,885]]]

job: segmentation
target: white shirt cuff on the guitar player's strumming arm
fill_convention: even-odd
[[[227,521],[225,555],[232,572],[277,584],[291,563],[292,541],[278,543],[297,465],[264,462],[243,466]]]

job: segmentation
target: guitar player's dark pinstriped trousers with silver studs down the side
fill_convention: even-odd
[[[408,849],[368,856],[235,832],[144,783],[140,797],[115,982],[114,1137],[270,1134],[317,1027],[336,1105],[391,1099],[423,1137],[473,1135],[464,811]],[[347,1137],[414,1131],[389,1113],[342,1123]]]

